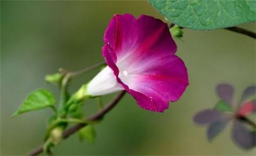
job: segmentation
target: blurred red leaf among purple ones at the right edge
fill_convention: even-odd
[[[256,101],[252,100],[249,102],[245,102],[242,104],[242,106],[239,108],[237,114],[238,116],[249,116],[251,113],[256,111]]]

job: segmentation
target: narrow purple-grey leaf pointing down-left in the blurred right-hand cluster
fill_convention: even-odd
[[[222,130],[227,126],[229,120],[219,120],[212,122],[212,124],[207,129],[207,139],[212,141],[214,137],[222,132]]]

